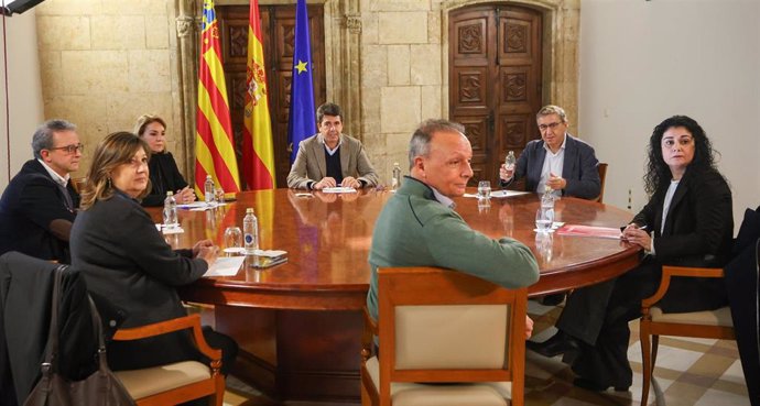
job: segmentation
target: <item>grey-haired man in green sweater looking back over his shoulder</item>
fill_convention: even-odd
[[[473,230],[453,209],[473,177],[473,147],[464,128],[446,120],[423,122],[409,145],[410,175],[388,200],[374,224],[367,308],[378,318],[378,267],[439,266],[508,288],[539,279],[531,250]],[[525,320],[526,337],[533,322]]]

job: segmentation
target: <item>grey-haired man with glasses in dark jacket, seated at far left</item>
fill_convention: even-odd
[[[0,198],[0,254],[19,251],[69,262],[68,237],[79,206],[69,174],[79,168],[83,151],[70,122],[50,120],[37,128],[34,160],[24,163]]]

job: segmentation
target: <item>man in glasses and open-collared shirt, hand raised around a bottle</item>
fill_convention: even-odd
[[[514,168],[501,165],[501,186],[525,177],[525,190],[543,193],[550,187],[555,196],[594,199],[601,191],[594,149],[567,133],[567,116],[557,106],[544,106],[535,116],[541,140],[525,145]]]

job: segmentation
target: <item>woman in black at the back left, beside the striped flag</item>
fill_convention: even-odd
[[[166,191],[170,190],[174,193],[177,204],[195,201],[195,191],[182,177],[172,153],[166,151],[166,122],[158,116],[140,116],[134,124],[134,133],[148,143],[151,151],[148,166],[152,187],[142,199],[142,206],[163,206]]]

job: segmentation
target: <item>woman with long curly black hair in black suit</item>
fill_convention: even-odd
[[[641,264],[616,279],[576,289],[557,320],[557,334],[529,344],[544,355],[577,351],[576,386],[625,391],[631,385],[628,322],[641,316],[641,300],[660,285],[662,265],[723,266],[730,256],[731,191],[696,121],[675,116],[654,128],[644,189],[651,198],[622,233],[643,249]],[[675,278],[659,306],[685,312],[726,303],[723,281]]]

